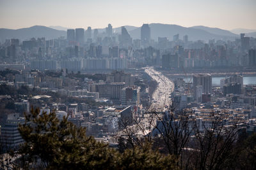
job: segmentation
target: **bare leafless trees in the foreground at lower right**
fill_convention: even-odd
[[[172,106],[169,112],[150,111],[148,115],[125,127],[126,136],[119,139],[121,152],[148,141],[159,152],[175,157],[180,169],[255,169],[256,134],[244,136],[244,125],[227,125],[218,113],[209,114],[200,124],[193,112],[174,113]],[[148,134],[141,136],[138,129]]]

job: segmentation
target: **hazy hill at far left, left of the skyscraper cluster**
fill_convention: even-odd
[[[67,36],[66,31],[60,31],[45,26],[35,25],[33,27],[22,28],[22,29],[0,29],[0,41],[5,39],[18,38],[21,40],[31,38],[42,38],[52,39],[59,38],[60,36]]]

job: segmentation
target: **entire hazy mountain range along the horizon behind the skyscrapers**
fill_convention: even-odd
[[[234,32],[244,31],[246,36],[256,37],[255,30],[236,29],[228,31],[219,28],[205,27],[202,25],[194,27],[182,27],[180,25],[173,24],[149,24],[151,30],[151,38],[157,41],[158,37],[167,37],[172,40],[173,35],[179,34],[179,38],[182,39],[184,35],[188,35],[189,41],[196,41],[198,39],[208,41],[209,39],[223,39],[223,40],[234,40],[239,38],[239,34]],[[125,28],[133,39],[140,39],[140,27],[134,27],[126,25]],[[61,26],[40,26],[35,25],[33,27],[22,28],[22,29],[0,29],[0,41],[5,39],[18,38],[21,40],[30,38],[41,38],[53,39],[59,38],[60,36],[67,36],[66,27]],[[99,33],[105,31],[105,29],[98,29]],[[252,31],[252,32],[250,32]],[[255,32],[253,32],[255,31]],[[121,27],[113,28],[113,32],[121,32]]]

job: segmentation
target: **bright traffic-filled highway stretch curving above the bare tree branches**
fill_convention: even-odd
[[[158,83],[152,95],[150,109],[163,111],[165,110],[164,108],[171,104],[171,93],[173,92],[174,84],[159,71],[154,70],[153,67],[146,67],[145,72]]]

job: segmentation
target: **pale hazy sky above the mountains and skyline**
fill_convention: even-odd
[[[256,29],[256,0],[0,0],[0,27],[143,23]]]

